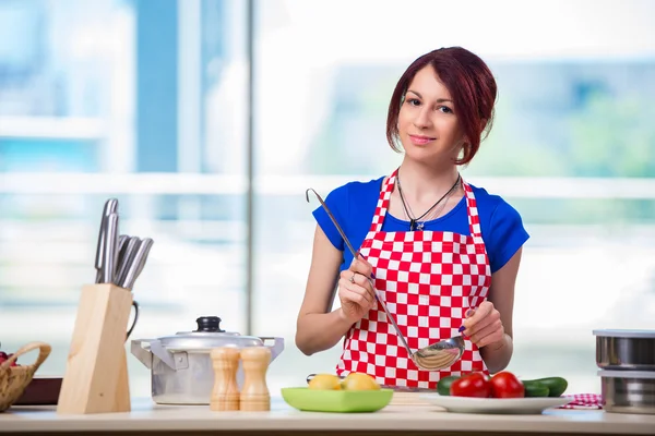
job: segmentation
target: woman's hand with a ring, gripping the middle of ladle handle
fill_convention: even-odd
[[[376,304],[376,294],[368,279],[373,267],[364,257],[353,259],[350,267],[341,272],[338,299],[342,315],[349,323],[361,319]]]

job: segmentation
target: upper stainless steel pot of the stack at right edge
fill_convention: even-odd
[[[655,371],[655,330],[594,330],[602,370]]]

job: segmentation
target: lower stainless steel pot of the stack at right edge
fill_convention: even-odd
[[[599,371],[598,375],[607,412],[655,414],[655,373]]]

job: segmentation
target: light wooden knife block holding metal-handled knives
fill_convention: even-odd
[[[82,288],[57,413],[129,412],[126,335],[132,292],[110,283]]]

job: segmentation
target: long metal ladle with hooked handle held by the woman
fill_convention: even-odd
[[[338,230],[340,234],[344,239],[344,242],[346,243],[346,245],[348,246],[348,250],[353,254],[353,258],[357,258],[357,252],[350,244],[350,241],[348,241],[348,238],[346,238],[346,234],[342,230],[338,222],[336,222],[336,219],[330,211],[330,208],[327,207],[325,202],[323,202],[323,198],[321,198],[321,196],[311,187],[309,187],[305,192],[307,203],[309,203],[309,192],[310,191],[313,192],[314,195],[317,196],[317,198],[319,199],[319,202],[321,202],[321,206],[323,206],[323,208],[327,213],[327,216],[330,216],[330,219],[334,223],[334,227],[336,227],[336,230]],[[374,275],[373,275],[373,278],[374,278]],[[434,342],[428,347],[424,347],[416,352],[413,352],[412,349],[409,348],[409,346],[407,344],[407,340],[403,336],[403,332],[398,328],[398,325],[396,324],[395,318],[386,308],[386,304],[384,304],[384,302],[382,302],[382,300],[380,299],[380,295],[379,295],[378,290],[376,289],[376,284],[373,282],[373,278],[367,277],[367,279],[371,283],[371,287],[376,294],[376,300],[378,301],[378,304],[380,304],[380,306],[386,314],[386,318],[393,325],[393,328],[395,328],[396,336],[398,337],[401,342],[403,342],[405,350],[407,350],[407,354],[409,355],[409,358],[412,358],[412,361],[414,361],[416,366],[418,366],[419,368],[425,370],[425,371],[439,371],[439,370],[444,370],[446,367],[452,366],[453,363],[457,362],[462,358],[462,354],[464,353],[464,338],[462,336],[455,336],[450,339],[444,339],[439,342]],[[462,332],[463,330],[464,330],[464,326],[460,327],[460,332]]]

